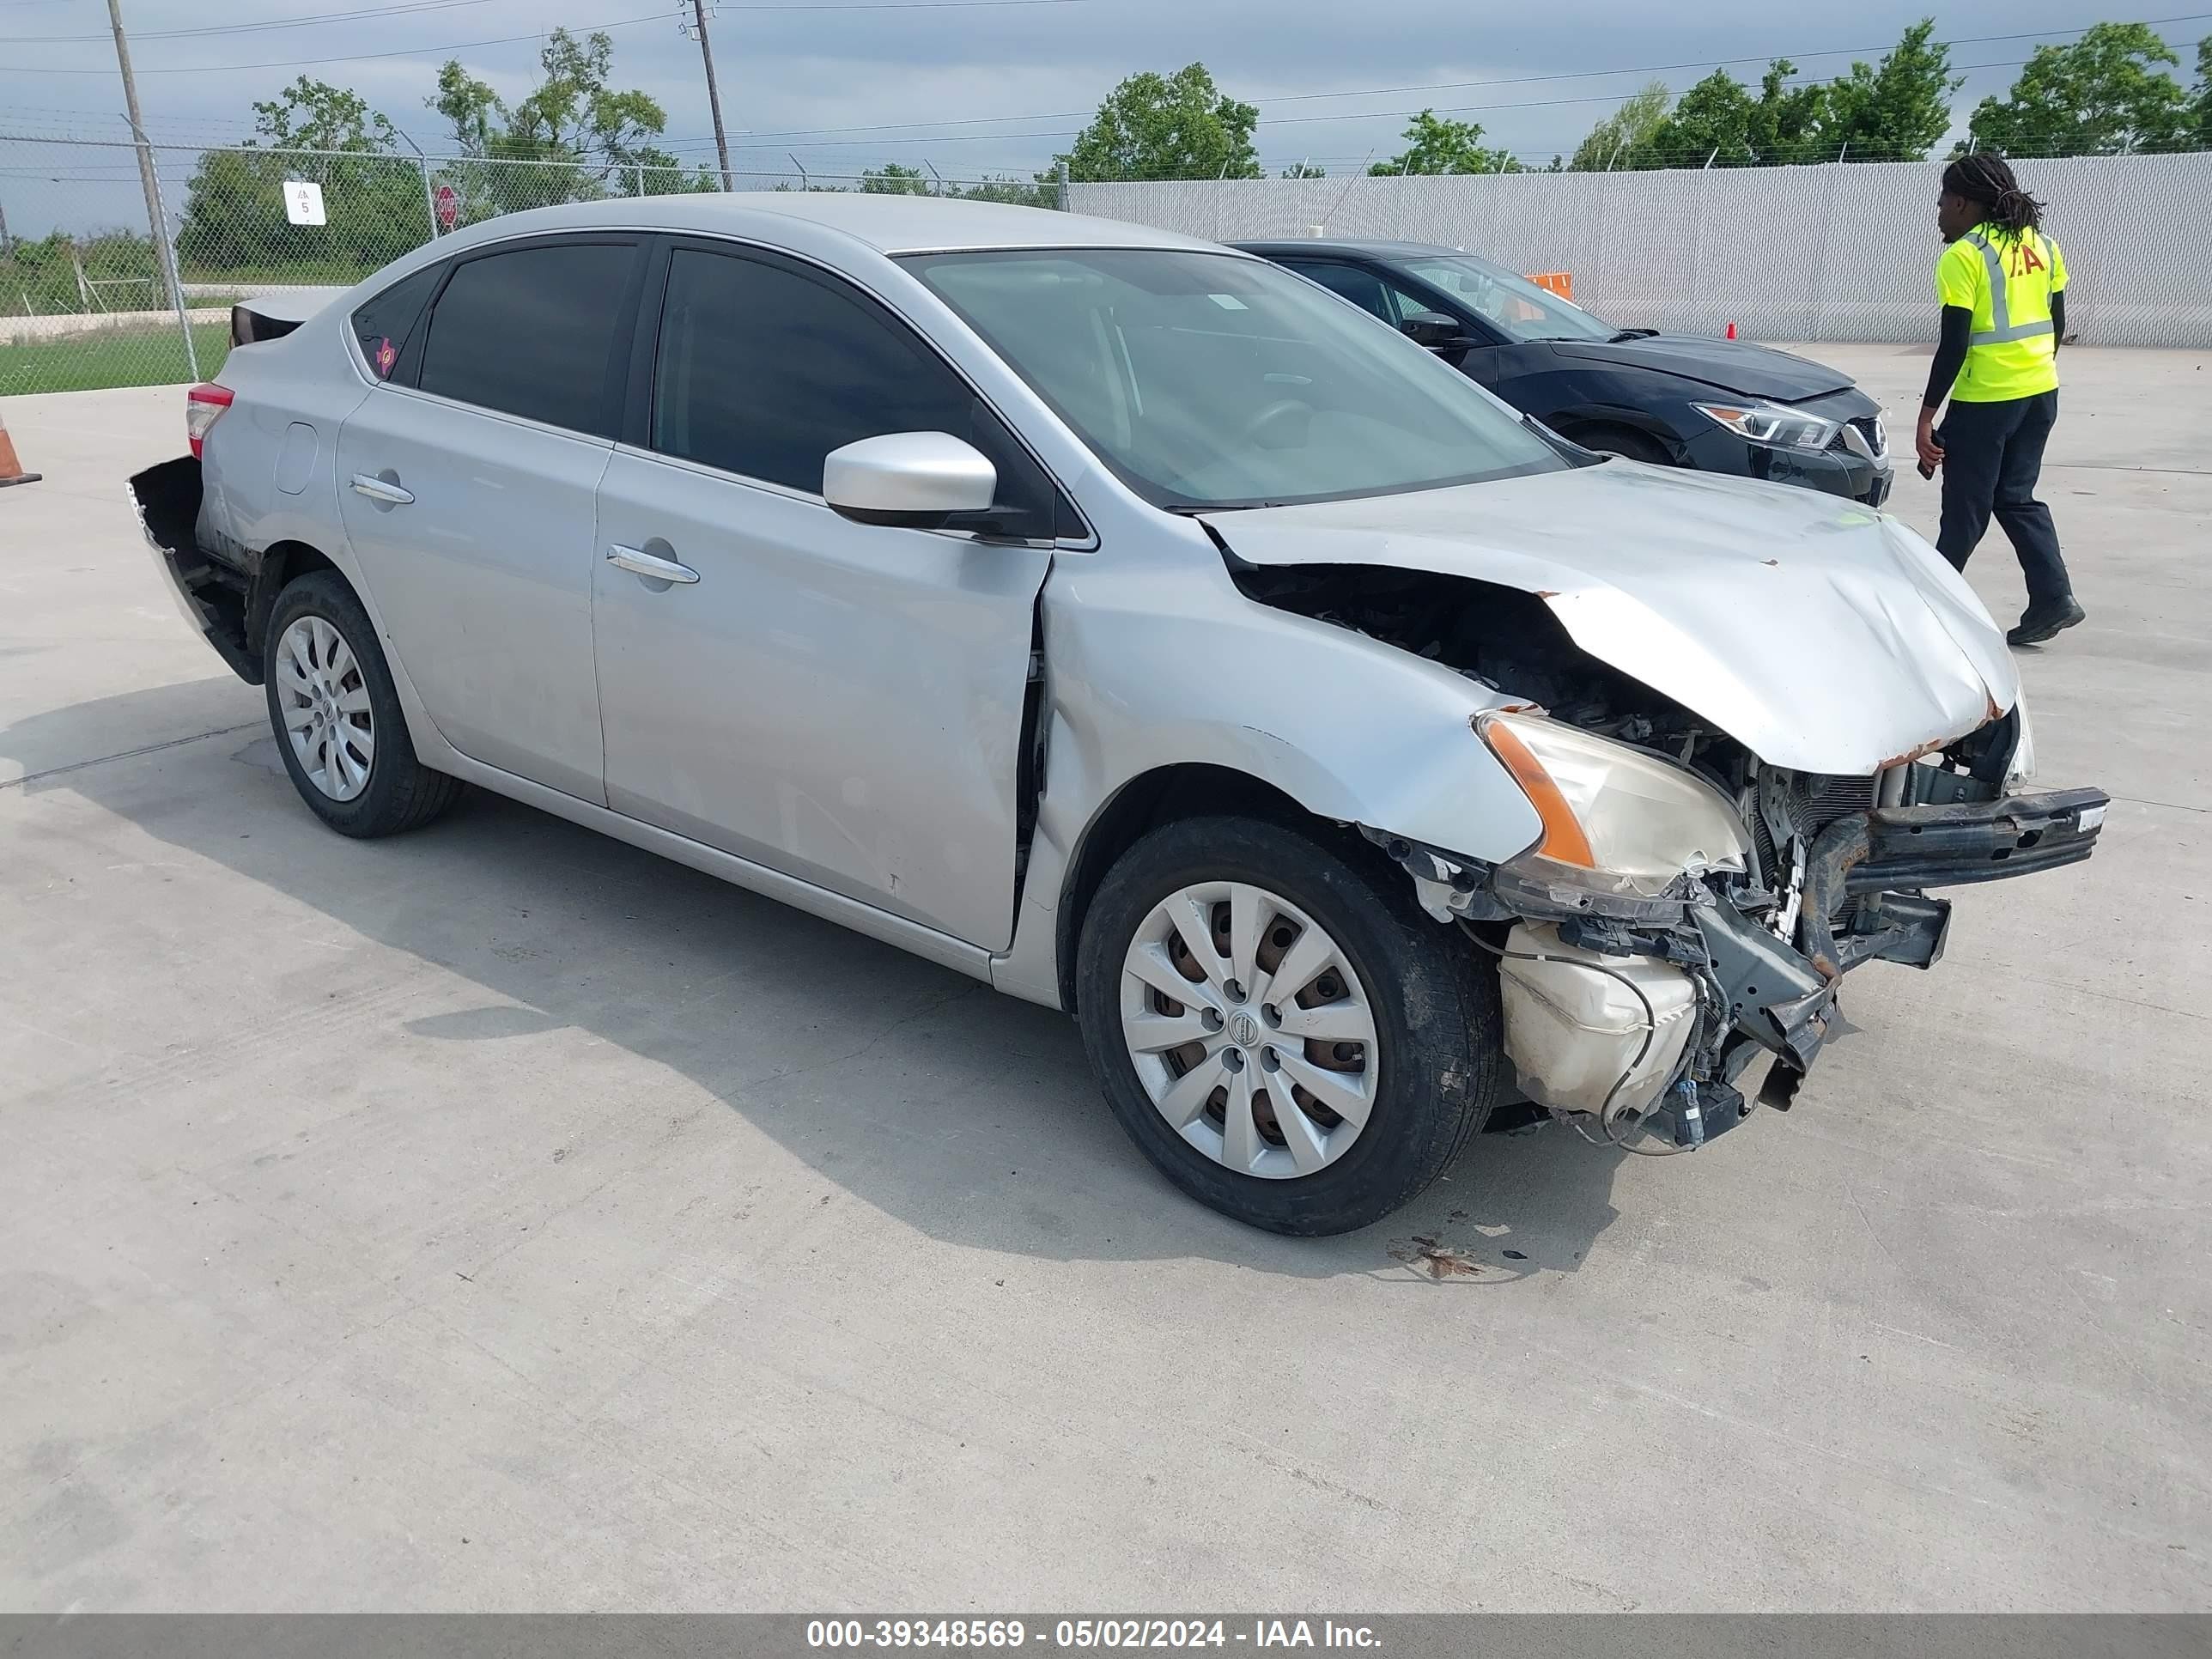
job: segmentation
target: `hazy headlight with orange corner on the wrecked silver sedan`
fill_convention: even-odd
[[[1646,898],[1683,872],[1750,867],[1743,818],[1679,765],[1542,714],[1484,714],[1475,730],[1544,821],[1524,856]]]

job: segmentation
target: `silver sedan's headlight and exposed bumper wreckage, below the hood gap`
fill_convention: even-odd
[[[1933,967],[1951,905],[1931,887],[2088,858],[2101,790],[2006,787],[2017,712],[1874,776],[1703,748],[1703,765],[1540,710],[1475,719],[1544,836],[1498,865],[1367,830],[1422,907],[1500,958],[1504,1046],[1528,1099],[1608,1137],[1694,1148],[1734,1128],[1739,1086],[1787,1110],[1865,962]],[[1617,754],[1606,754],[1617,750]]]

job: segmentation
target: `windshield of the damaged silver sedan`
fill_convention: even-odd
[[[1566,467],[1458,369],[1259,259],[1048,248],[902,263],[1155,507],[1318,502]]]

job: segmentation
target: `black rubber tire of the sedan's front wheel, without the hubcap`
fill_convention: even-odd
[[[1365,1228],[1436,1181],[1500,1097],[1504,1037],[1489,958],[1413,902],[1413,885],[1365,845],[1256,818],[1183,818],[1144,836],[1084,916],[1075,1015],[1121,1128],[1190,1197],[1254,1228]],[[1239,880],[1305,911],[1343,949],[1374,1011],[1380,1084],[1367,1126],[1334,1164],[1290,1179],[1243,1175],[1186,1141],[1155,1108],[1121,1035],[1121,964],[1152,907],[1181,887]]]

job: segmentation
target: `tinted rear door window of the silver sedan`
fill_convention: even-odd
[[[425,392],[604,431],[608,356],[635,248],[564,243],[471,259],[438,294]]]

